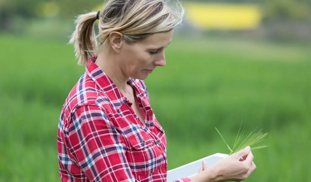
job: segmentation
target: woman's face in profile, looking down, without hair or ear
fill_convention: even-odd
[[[144,80],[156,69],[165,66],[164,50],[171,42],[173,30],[156,33],[134,44],[122,43],[119,52],[123,74],[133,79]]]

